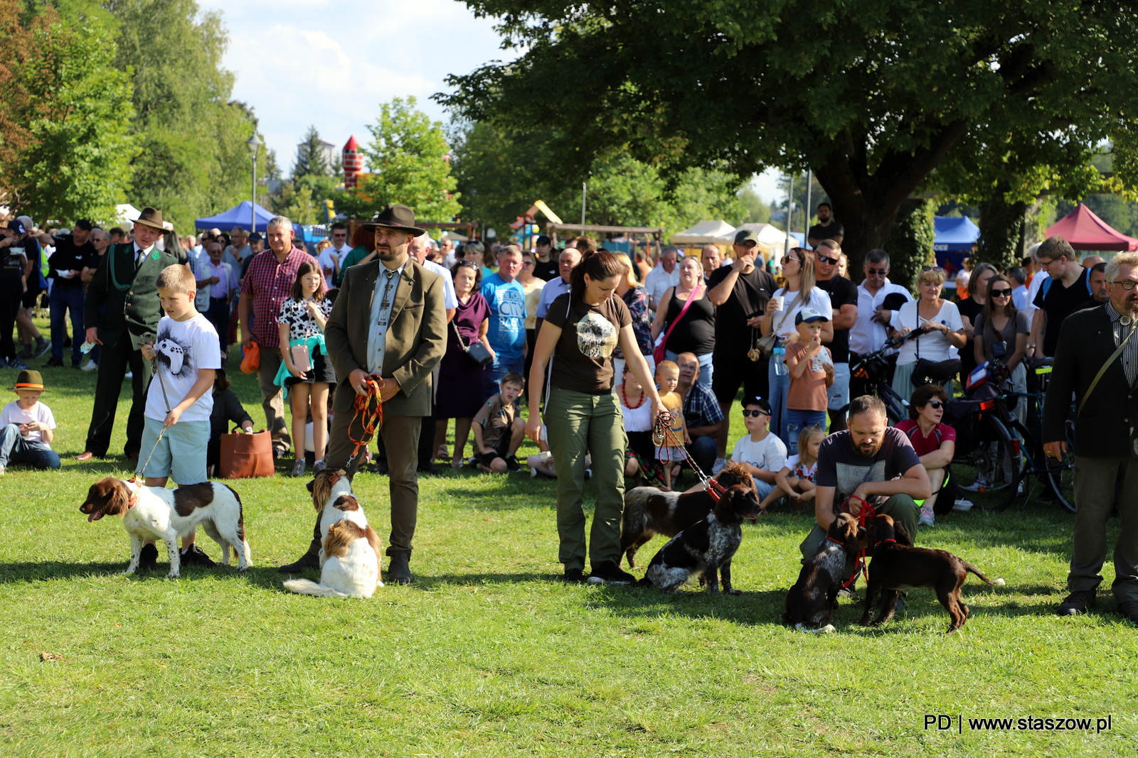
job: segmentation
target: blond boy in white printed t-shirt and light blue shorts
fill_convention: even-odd
[[[139,455],[147,486],[164,488],[170,477],[184,486],[207,478],[211,390],[221,368],[221,344],[213,325],[193,307],[197,284],[189,268],[166,266],[155,284],[166,315],[158,322],[157,340],[142,345],[142,356],[156,365],[142,414],[146,425]],[[213,566],[193,538],[192,532],[182,538],[182,561]],[[157,557],[154,543],[148,542],[139,567],[152,567]]]

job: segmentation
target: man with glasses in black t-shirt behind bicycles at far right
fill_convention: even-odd
[[[1090,269],[1082,267],[1074,249],[1061,236],[1045,240],[1036,256],[1050,278],[1036,294],[1034,305],[1039,310],[1032,317],[1028,347],[1036,348],[1036,356],[1052,357],[1059,342],[1063,320],[1094,295]]]

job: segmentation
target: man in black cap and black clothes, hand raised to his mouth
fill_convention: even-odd
[[[762,256],[754,249],[758,243],[754,232],[740,231],[732,245],[734,263],[717,268],[708,277],[708,299],[717,309],[711,389],[724,415],[716,440],[715,470],[723,468],[727,457],[731,403],[735,401],[739,386],[743,385],[747,397],[765,398],[768,393],[768,361],[748,357],[759,338],[759,325],[770,293],[776,289],[774,277],[762,269]]]

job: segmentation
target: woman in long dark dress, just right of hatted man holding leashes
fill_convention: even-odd
[[[462,348],[480,341],[490,355],[494,351],[486,338],[490,307],[478,292],[478,284],[483,281],[481,268],[471,260],[459,260],[451,274],[454,276],[454,294],[459,299],[459,307],[447,328],[446,353],[439,368],[435,450],[446,449],[446,423],[453,418],[454,457],[451,466],[459,468],[462,466],[470,424],[483,406],[481,391],[471,392],[470,388],[483,386],[484,373],[483,366],[469,358]]]

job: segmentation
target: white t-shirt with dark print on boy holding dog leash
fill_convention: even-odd
[[[221,368],[221,343],[213,324],[201,314],[184,322],[175,322],[170,316],[163,316],[158,322],[158,336],[154,341],[154,351],[158,356],[157,370],[150,380],[150,389],[147,390],[143,415],[147,418],[163,420],[166,418],[166,413],[180,403],[198,381],[199,369]],[[166,390],[165,395],[163,386]],[[179,420],[208,422],[212,410],[213,391],[206,388],[201,397],[182,413]]]

